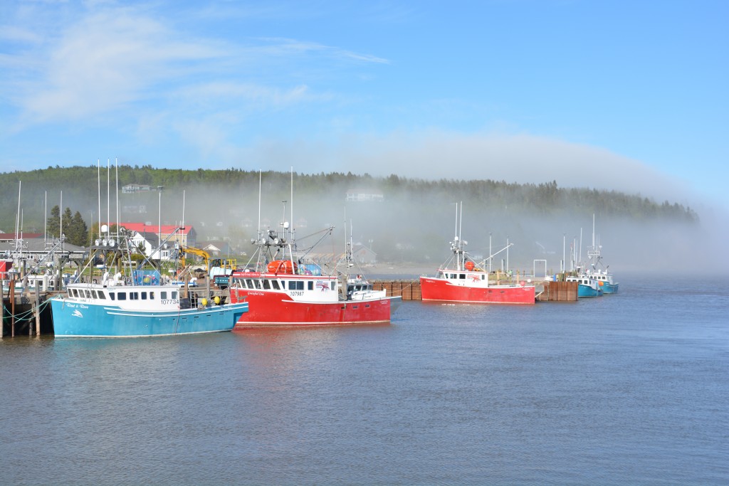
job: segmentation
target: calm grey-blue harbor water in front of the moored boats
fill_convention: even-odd
[[[729,289],[0,342],[7,485],[726,485]]]

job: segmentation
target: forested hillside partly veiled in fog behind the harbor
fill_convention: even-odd
[[[118,171],[118,173],[117,173]],[[260,177],[260,181],[259,181]],[[293,180],[293,194],[291,183]],[[452,238],[455,205],[464,203],[464,238],[478,238],[480,249],[488,238],[499,241],[528,240],[528,248],[552,241],[561,253],[562,235],[588,229],[592,215],[599,222],[621,219],[637,224],[671,222],[693,225],[698,215],[671,201],[655,201],[642,195],[588,188],[561,188],[556,181],[515,184],[506,181],[406,179],[373,177],[364,173],[294,173],[235,168],[226,170],[155,169],[150,165],[49,167],[43,170],[0,174],[2,211],[0,230],[13,232],[22,183],[20,209],[23,230],[43,232],[46,216],[54,206],[66,213],[80,213],[90,223],[113,223],[117,197],[121,222],[192,224],[200,240],[227,239],[241,251],[259,224],[277,227],[290,219],[302,232],[314,232],[348,221],[356,240],[373,246],[387,259],[438,258]],[[149,186],[122,193],[128,184]],[[259,184],[261,191],[259,191]],[[107,191],[107,187],[109,191]],[[117,187],[119,190],[117,191]],[[162,187],[159,192],[157,187]],[[347,202],[350,193],[376,195],[375,201]],[[259,216],[259,197],[261,210]],[[62,198],[62,200],[61,200]],[[293,208],[292,208],[293,203]],[[259,222],[260,219],[260,222]],[[549,234],[545,235],[548,229]],[[522,243],[525,245],[526,243]]]

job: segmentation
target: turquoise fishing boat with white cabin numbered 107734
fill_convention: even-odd
[[[148,280],[148,279],[145,279]],[[69,283],[50,299],[55,337],[149,337],[230,331],[248,302],[182,298],[177,285]]]

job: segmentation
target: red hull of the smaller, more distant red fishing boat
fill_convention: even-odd
[[[474,304],[534,304],[534,286],[473,287],[453,285],[440,278],[420,278],[421,296],[426,300]]]

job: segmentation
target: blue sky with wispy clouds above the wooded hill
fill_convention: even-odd
[[[4,1],[2,171],[556,180],[729,208],[729,2]]]

